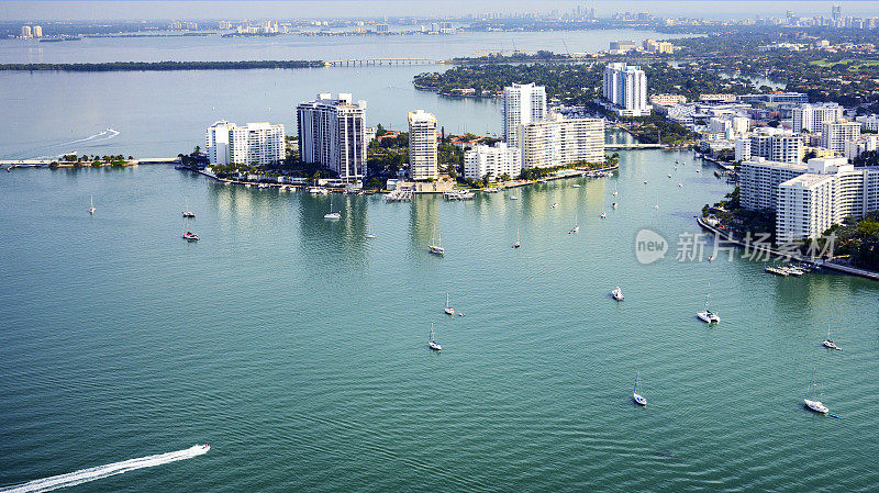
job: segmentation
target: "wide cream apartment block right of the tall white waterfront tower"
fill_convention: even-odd
[[[604,121],[550,114],[519,126],[522,168],[547,168],[576,161],[604,163]]]

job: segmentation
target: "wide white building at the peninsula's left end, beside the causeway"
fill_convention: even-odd
[[[219,121],[205,132],[205,153],[211,165],[275,165],[286,156],[285,137],[282,124]]]

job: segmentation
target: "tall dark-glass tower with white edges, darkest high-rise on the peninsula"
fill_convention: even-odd
[[[338,173],[346,182],[366,177],[366,101],[352,94],[320,93],[315,101],[297,105],[299,155]]]

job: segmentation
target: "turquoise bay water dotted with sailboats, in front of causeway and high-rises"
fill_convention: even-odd
[[[3,172],[0,484],[209,442],[69,491],[875,490],[879,284],[675,261],[730,186],[689,155],[622,155],[582,188],[458,203]],[[643,227],[664,260],[636,261]],[[813,368],[839,419],[802,407]]]

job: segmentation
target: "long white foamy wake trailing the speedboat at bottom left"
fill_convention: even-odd
[[[158,453],[155,456],[141,457],[138,459],[129,459],[123,460],[122,462],[98,466],[97,468],[80,469],[79,471],[69,472],[67,474],[53,475],[42,480],[34,480],[22,484],[4,486],[0,488],[0,492],[38,493],[57,490],[59,488],[75,486],[77,484],[122,474],[136,469],[152,468],[154,466],[162,466],[169,462],[176,462],[178,460],[191,459],[193,457],[207,453],[210,449],[211,447],[208,445],[197,445],[194,447],[189,447],[176,452]]]

